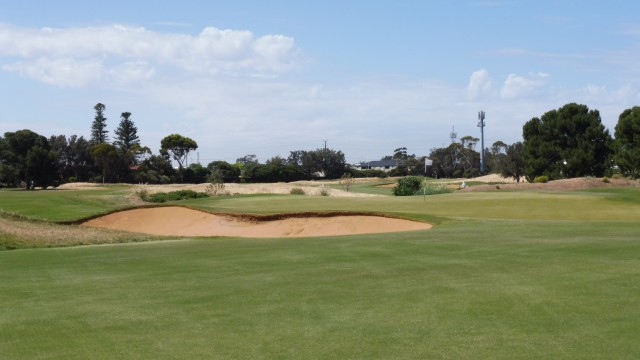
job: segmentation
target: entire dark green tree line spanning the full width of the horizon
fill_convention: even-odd
[[[405,147],[383,160],[395,160],[390,173],[358,171],[347,165],[342,151],[296,150],[287,158],[272,157],[264,164],[255,155],[231,164],[213,161],[206,166],[188,164],[193,139],[171,134],[161,140],[159,154],[140,144],[131,113],[123,112],[109,140],[105,106],[94,107],[89,139],[56,135],[46,138],[31,130],[0,136],[0,187],[47,187],[65,182],[202,183],[289,182],[303,179],[337,179],[363,176],[428,175],[440,178],[480,175],[479,139],[464,136],[447,147],[431,149],[428,157],[409,154]],[[620,173],[640,177],[640,107],[624,110],[614,137],[602,124],[597,110],[575,103],[534,117],[523,126],[523,141],[497,141],[484,151],[486,172],[520,181],[546,176],[550,180]],[[425,167],[425,161],[431,164]],[[177,168],[173,162],[178,164]]]

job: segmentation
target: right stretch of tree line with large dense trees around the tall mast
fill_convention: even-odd
[[[489,173],[516,180],[533,181],[583,176],[640,177],[640,107],[624,110],[614,136],[602,124],[598,110],[569,103],[527,121],[523,141],[495,142],[482,149]],[[478,139],[464,137],[460,143],[432,149],[432,174],[439,177],[473,177],[480,174]]]

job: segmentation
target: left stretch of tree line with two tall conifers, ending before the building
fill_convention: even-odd
[[[123,112],[113,141],[107,129],[105,105],[95,105],[89,139],[78,135],[46,138],[31,130],[0,136],[0,187],[34,188],[66,182],[201,183],[274,182],[339,178],[345,155],[333,149],[291,151],[288,158],[273,157],[261,164],[255,155],[234,164],[214,161],[206,166],[188,164],[195,140],[171,134],[160,141],[159,154],[140,144],[130,112]],[[173,166],[174,162],[177,168]]]

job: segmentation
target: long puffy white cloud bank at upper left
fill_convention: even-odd
[[[65,29],[0,24],[2,57],[13,61],[5,60],[3,70],[58,86],[150,79],[167,66],[197,76],[273,76],[297,68],[302,59],[294,40],[283,35],[207,27],[192,36],[119,24]]]

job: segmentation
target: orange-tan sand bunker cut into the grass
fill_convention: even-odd
[[[382,216],[341,215],[244,219],[183,207],[126,210],[82,224],[152,235],[237,236],[252,238],[372,234],[430,229],[431,225]]]

